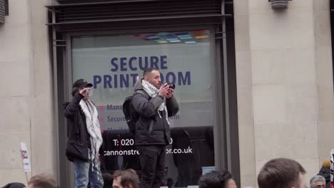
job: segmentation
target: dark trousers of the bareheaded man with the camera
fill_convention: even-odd
[[[160,188],[166,162],[166,146],[137,147],[141,161],[140,188]]]

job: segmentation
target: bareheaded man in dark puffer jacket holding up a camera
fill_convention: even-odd
[[[160,188],[166,160],[166,145],[171,144],[168,117],[178,113],[173,88],[161,85],[156,68],[143,71],[135,85],[133,108],[140,114],[136,122],[136,146],[140,153],[141,188]]]

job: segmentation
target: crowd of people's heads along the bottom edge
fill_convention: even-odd
[[[329,165],[328,165],[329,164]],[[310,188],[330,188],[330,160],[323,162],[319,174],[310,179]],[[325,173],[324,173],[325,171]],[[295,160],[277,158],[266,162],[258,174],[259,188],[306,188],[305,169]],[[320,175],[321,174],[321,175]],[[139,188],[140,180],[133,169],[117,170],[113,174],[103,173],[103,188]],[[6,184],[3,188],[24,188],[22,183]],[[28,182],[28,188],[57,188],[56,180],[51,174],[38,174]],[[159,186],[160,187],[160,186]],[[203,174],[198,180],[199,188],[237,188],[233,175],[228,171],[213,170]]]

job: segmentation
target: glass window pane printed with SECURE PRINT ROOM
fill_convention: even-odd
[[[210,37],[210,31],[199,30],[72,38],[72,79],[93,83],[91,100],[103,130],[103,171],[133,168],[140,174],[122,104],[145,68],[158,68],[162,82],[176,85],[180,105],[168,119],[173,143],[166,150],[163,184],[196,185],[203,172],[215,168]]]

